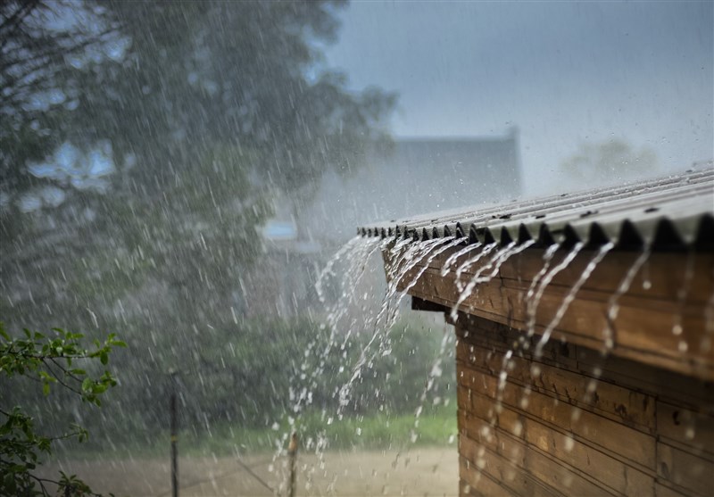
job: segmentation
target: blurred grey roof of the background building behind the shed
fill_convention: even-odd
[[[494,137],[396,138],[352,174],[328,173],[300,223],[312,238],[344,241],[374,220],[510,201],[521,178],[515,127]]]

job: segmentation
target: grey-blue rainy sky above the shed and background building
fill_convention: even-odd
[[[714,156],[712,2],[353,2],[340,18],[327,65],[400,95],[395,136],[518,126],[531,193],[557,190],[582,144],[647,147],[652,175]]]

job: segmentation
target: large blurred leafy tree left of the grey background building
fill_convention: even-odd
[[[326,170],[358,167],[388,141],[394,95],[348,91],[345,76],[325,67],[320,47],[336,38],[342,2],[73,5],[112,37],[47,73],[71,103],[53,107],[53,122],[7,113],[48,142],[16,153],[0,189],[16,198],[44,181],[66,198],[30,212],[0,205],[0,312],[35,327],[121,327],[133,352],[121,399],[151,405],[156,378],[179,365],[201,373],[187,381],[196,406],[218,406],[225,401],[203,386],[223,385],[215,349],[261,357],[292,340],[264,330],[275,347],[253,339],[260,330],[238,302],[262,257],[271,197],[304,198]],[[59,145],[79,165],[98,150],[112,174],[97,185],[66,168],[38,172],[38,162],[57,162]],[[12,183],[21,174],[27,189]],[[161,426],[159,413],[142,415],[137,423]]]

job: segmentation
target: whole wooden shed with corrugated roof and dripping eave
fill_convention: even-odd
[[[461,495],[709,495],[714,170],[359,229],[458,336]]]

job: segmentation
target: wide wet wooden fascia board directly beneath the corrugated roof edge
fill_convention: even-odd
[[[444,277],[440,268],[453,252],[446,251],[430,261],[410,294],[433,302],[435,309],[438,306],[452,309],[460,295],[454,270],[458,262]],[[564,256],[565,252],[556,255],[551,267]],[[594,253],[581,253],[545,287],[535,311],[535,334],[544,333],[552,323],[577,276],[593,256]],[[636,253],[608,254],[577,292],[577,298],[552,330],[552,339],[714,380],[714,334],[706,329],[707,314],[714,312],[707,307],[714,294],[714,256],[653,253],[637,272],[630,289],[618,299],[617,318],[610,323],[612,294],[636,256]],[[493,263],[493,254],[464,271],[461,281],[468,283],[489,261]],[[527,292],[543,264],[542,251],[527,250],[513,256],[502,264],[491,281],[479,284],[459,310],[527,331]],[[677,270],[672,270],[673,267]],[[403,289],[410,284],[420,270],[418,264],[400,280],[398,287]],[[488,269],[482,275],[491,272],[493,269]],[[610,348],[608,337],[612,339]]]

